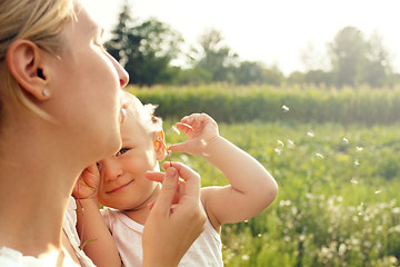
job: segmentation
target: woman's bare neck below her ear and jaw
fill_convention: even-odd
[[[21,132],[3,131],[0,139],[0,247],[40,257],[61,251],[62,221],[79,168],[40,131]]]

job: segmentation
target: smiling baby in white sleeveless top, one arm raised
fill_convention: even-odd
[[[84,251],[97,266],[142,266],[143,225],[161,188],[157,174],[149,175],[159,171],[158,161],[167,155],[161,119],[153,116],[152,105],[143,106],[130,93],[127,98],[122,148],[99,161],[97,168],[89,167],[73,194],[84,208],[84,218],[78,214],[78,233],[87,243]],[[169,150],[204,157],[230,182],[201,189],[208,217],[206,229],[179,266],[223,266],[221,225],[243,221],[266,209],[277,197],[277,182],[253,157],[221,137],[217,122],[208,115],[183,117],[177,128],[188,140]],[[164,162],[163,167],[177,175],[192,171],[178,162]],[[184,181],[179,184],[179,190],[184,190]],[[104,209],[99,210],[99,204]]]

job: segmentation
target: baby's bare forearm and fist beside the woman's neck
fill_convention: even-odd
[[[121,266],[117,245],[99,210],[99,180],[100,174],[93,165],[77,181],[72,194],[77,201],[77,230],[86,255],[96,266]]]

